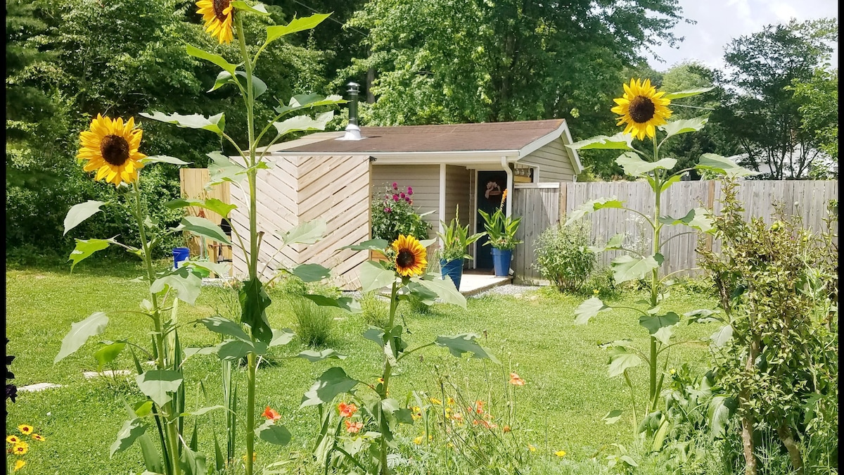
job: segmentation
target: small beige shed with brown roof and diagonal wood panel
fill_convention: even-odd
[[[504,123],[462,123],[397,127],[360,127],[360,139],[348,132],[310,134],[268,151],[270,168],[259,173],[258,216],[267,232],[260,259],[276,252],[279,239],[270,236],[302,221],[322,217],[328,238],[320,243],[279,254],[286,264],[317,263],[333,268],[341,287],[357,286],[357,267],[367,259],[361,252],[335,253],[359,243],[370,234],[369,210],[373,194],[397,182],[414,189],[414,206],[433,232],[440,221],[451,221],[459,205],[460,221],[483,231],[478,210],[500,205],[501,192],[514,183],[573,182],[582,172],[571,133],[564,119]],[[233,203],[244,195],[232,188]],[[511,199],[506,213],[511,213]],[[241,206],[245,210],[245,206]],[[235,210],[235,226],[245,227],[246,216]],[[488,246],[476,243],[468,261],[473,269],[492,269]],[[235,252],[236,274],[246,272],[246,262]],[[268,265],[267,276],[274,273]]]

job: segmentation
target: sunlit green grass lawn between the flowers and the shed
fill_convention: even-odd
[[[92,259],[94,260],[94,259]],[[30,445],[25,456],[27,468],[34,473],[114,474],[143,472],[138,447],[109,458],[109,445],[125,419],[125,403],[142,399],[134,383],[113,384],[104,379],[84,379],[83,371],[95,370],[92,354],[96,341],[132,341],[149,347],[149,321],[140,315],[115,314],[105,334],[89,341],[71,357],[53,364],[62,337],[72,322],[100,310],[134,310],[145,297],[141,283],[129,280],[140,274],[138,266],[85,262],[71,276],[67,269],[18,268],[6,273],[6,334],[8,352],[16,356],[11,366],[14,383],[19,386],[50,382],[62,388],[19,394],[8,404],[6,429],[14,433],[20,423],[29,423],[46,436],[43,443]],[[391,393],[400,401],[411,390],[434,390],[436,371],[450,374],[484,399],[488,380],[500,385],[509,371],[517,372],[527,385],[517,388],[517,408],[525,440],[539,450],[565,450],[566,460],[585,460],[612,442],[631,440],[630,423],[607,425],[603,416],[611,409],[625,409],[630,414],[630,395],[623,379],[609,379],[608,354],[598,348],[598,341],[630,338],[636,346],[647,348],[646,330],[630,310],[599,314],[588,325],[574,325],[574,308],[582,298],[556,292],[526,293],[520,298],[490,296],[470,298],[468,308],[436,305],[430,314],[412,314],[406,309],[404,322],[411,332],[406,336],[410,347],[433,341],[437,335],[475,332],[500,359],[502,367],[477,359],[453,358],[445,348],[429,347],[419,351],[422,358],[408,358],[400,374],[392,379]],[[203,287],[196,306],[182,303],[179,319],[183,347],[211,346],[218,336],[202,325],[191,325],[219,311],[225,312],[230,299],[224,289]],[[268,309],[274,328],[292,326],[295,319],[279,292],[271,293]],[[643,295],[626,294],[619,304],[630,305]],[[714,308],[709,296],[682,289],[675,291],[663,310],[678,314],[695,308]],[[290,445],[276,448],[258,441],[260,461],[270,462],[291,456],[306,456],[317,433],[316,409],[299,410],[302,394],[317,375],[339,364],[347,373],[363,381],[375,381],[380,375],[379,348],[360,334],[367,325],[360,314],[338,319],[338,329],[331,347],[348,355],[344,361],[308,363],[303,359],[285,359],[303,349],[298,341],[287,347],[273,348],[273,362],[263,364],[257,374],[257,405],[271,406],[282,415],[282,423],[293,434]],[[706,338],[717,325],[679,325],[675,339]],[[705,370],[709,361],[706,345],[689,343],[672,348],[671,366],[689,363]],[[122,356],[119,367],[132,368],[131,357]],[[210,404],[219,400],[219,363],[213,356],[193,357],[186,363],[185,383],[188,408],[207,404],[197,395],[199,381],[212,390]],[[647,369],[633,370],[638,394],[647,392]],[[245,379],[241,374],[241,380]],[[242,392],[245,400],[246,393]],[[210,405],[208,404],[208,405]],[[206,419],[207,420],[207,419]],[[192,427],[192,426],[191,426]],[[203,422],[200,450],[213,459],[211,431],[224,432],[222,419],[214,428]],[[413,438],[419,428],[403,426],[404,439]],[[241,432],[242,434],[242,432]],[[547,445],[546,437],[547,434]],[[244,452],[245,453],[245,452]]]

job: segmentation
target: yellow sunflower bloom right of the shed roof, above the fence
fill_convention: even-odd
[[[630,79],[630,85],[625,84],[625,95],[613,100],[618,106],[610,109],[621,115],[615,125],[626,123],[625,134],[633,134],[640,140],[645,135],[653,137],[657,125],[663,125],[665,119],[671,117],[667,107],[671,100],[663,98],[664,94],[657,92],[651,85],[651,79],[645,79],[645,82]]]

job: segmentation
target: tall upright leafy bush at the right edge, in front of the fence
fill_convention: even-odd
[[[723,311],[701,317],[724,324],[712,336],[717,380],[736,401],[744,472],[759,472],[755,438],[765,429],[787,450],[791,470],[836,470],[837,449],[825,442],[838,429],[836,216],[825,218],[823,233],[782,209],[770,225],[744,221],[737,186],[722,183],[714,221],[721,252],[698,252]],[[807,458],[813,440],[825,450]]]

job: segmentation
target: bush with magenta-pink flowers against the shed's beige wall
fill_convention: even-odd
[[[399,234],[427,239],[430,224],[422,219],[434,210],[419,214],[414,209],[414,188],[400,188],[393,182],[384,187],[382,194],[372,196],[372,238],[390,243]]]

